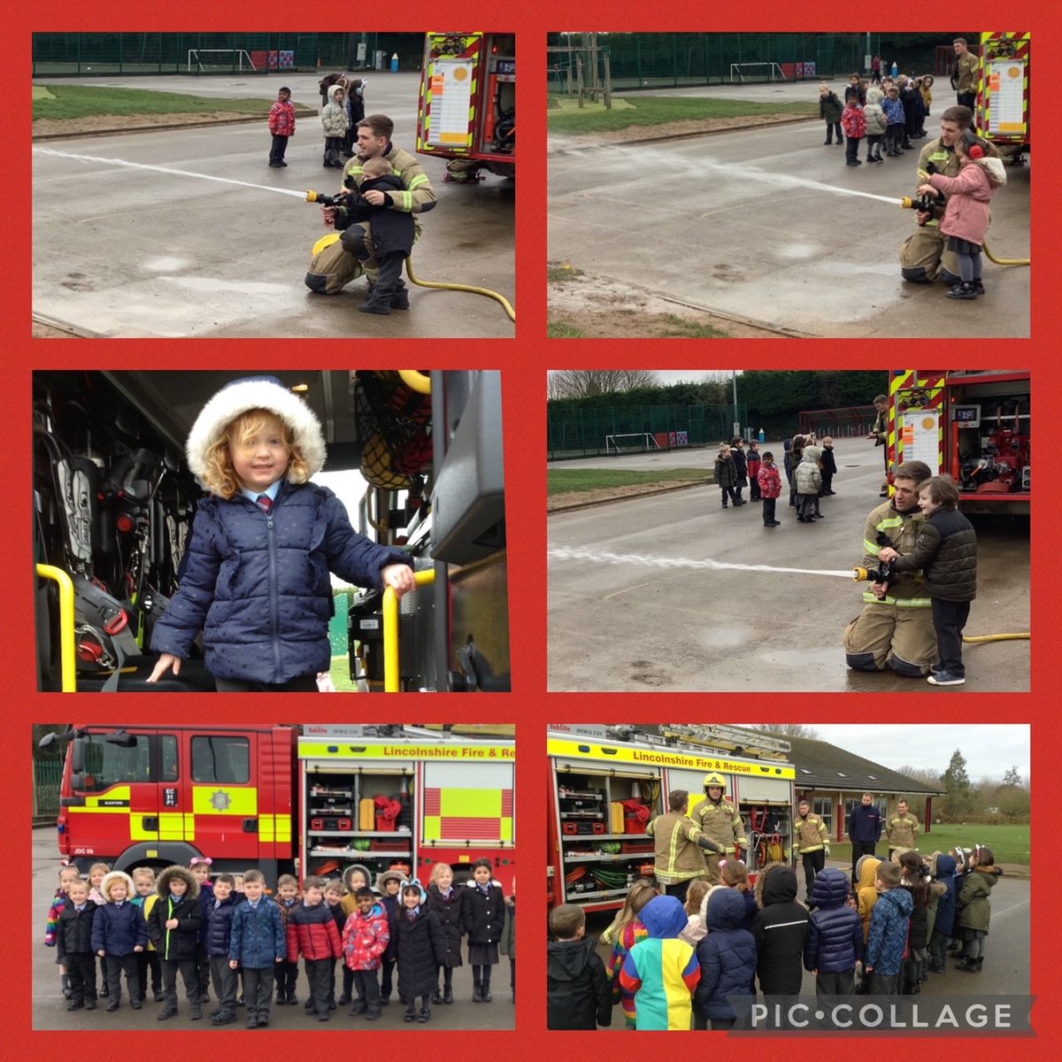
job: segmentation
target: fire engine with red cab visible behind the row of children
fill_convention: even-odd
[[[211,872],[258,867],[273,885],[354,862],[459,881],[489,858],[511,889],[512,726],[439,733],[400,725],[74,724],[59,791],[59,851],[87,871],[209,856]]]

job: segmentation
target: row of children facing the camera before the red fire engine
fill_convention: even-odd
[[[45,943],[56,948],[67,1010],[95,1010],[98,995],[108,1011],[118,1010],[124,974],[134,1010],[142,1008],[150,980],[155,1001],[164,1005],[162,1022],[177,1013],[179,973],[192,1021],[203,1017],[212,983],[213,1025],[233,1024],[237,1008],[245,1006],[247,1028],[264,1028],[274,980],[277,1006],[298,1003],[302,956],[305,1009],[319,1021],[350,1003],[352,1015],[377,1021],[391,1001],[397,969],[405,1021],[426,1023],[431,1004],[453,1003],[465,936],[473,1000],[492,1001],[491,969],[500,948],[510,956],[515,1001],[516,896],[503,895],[487,859],[473,864],[463,887],[455,885],[450,867],[435,863],[427,891],[402,870],[379,874],[374,891],[369,869],[356,863],[342,880],[307,877],[302,893],[297,880],[282,874],[275,896],[267,895],[261,871],[211,879],[210,862],[167,867],[157,878],[149,867],[129,875],[96,863],[87,881],[76,867],[61,869]],[[343,971],[338,1001],[337,960]]]

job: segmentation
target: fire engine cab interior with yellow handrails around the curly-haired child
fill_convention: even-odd
[[[34,373],[38,688],[212,690],[196,656],[177,678],[143,680],[203,496],[185,440],[206,400],[240,375]],[[408,549],[416,570],[419,588],[400,602],[391,590],[352,598],[349,667],[333,660],[333,674],[366,691],[508,690],[500,373],[273,375],[321,421],[326,476],[349,472],[342,482],[361,484],[352,523]]]

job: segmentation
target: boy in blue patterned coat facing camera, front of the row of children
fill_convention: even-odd
[[[260,870],[252,868],[244,872],[243,895],[243,903],[233,914],[228,967],[243,966],[247,1028],[264,1029],[273,1000],[273,970],[288,957],[288,942],[280,910],[266,895],[266,877]]]

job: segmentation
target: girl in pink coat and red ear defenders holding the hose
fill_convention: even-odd
[[[976,298],[984,294],[981,284],[981,244],[989,230],[989,203],[997,188],[1007,183],[1003,160],[988,155],[989,145],[972,130],[963,130],[955,141],[959,175],[933,173],[919,185],[919,194],[944,192],[947,201],[940,230],[947,237],[947,250],[959,259],[960,284],[947,292],[948,298]]]

